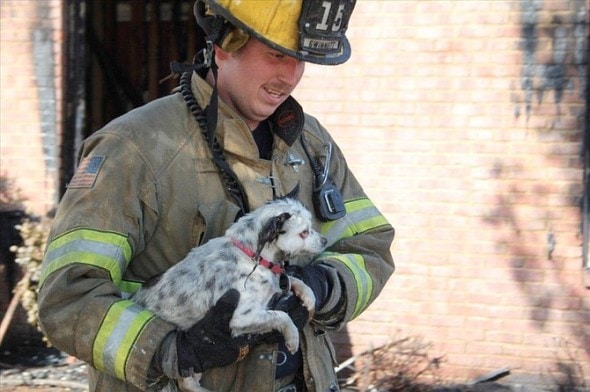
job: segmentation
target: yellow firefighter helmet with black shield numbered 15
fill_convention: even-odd
[[[198,24],[233,51],[253,36],[299,60],[335,65],[350,58],[344,35],[356,0],[197,0]]]

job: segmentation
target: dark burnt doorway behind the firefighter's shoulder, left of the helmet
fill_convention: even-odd
[[[60,196],[82,140],[108,121],[169,94],[171,61],[195,54],[194,0],[64,0],[64,129]]]

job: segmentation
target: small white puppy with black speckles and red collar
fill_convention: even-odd
[[[303,204],[291,198],[275,200],[240,218],[223,237],[191,250],[185,259],[147,282],[132,299],[179,329],[188,330],[228,289],[235,288],[240,300],[229,324],[233,336],[275,330],[295,353],[299,347],[295,324],[287,313],[268,309],[268,303],[283,292],[286,280],[287,290],[313,314],[312,290],[301,280],[287,277],[282,263],[317,255],[326,242],[312,229],[311,213]],[[186,390],[203,390],[198,383],[192,387],[188,382],[181,384]]]

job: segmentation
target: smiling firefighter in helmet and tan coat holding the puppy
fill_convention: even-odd
[[[214,391],[338,390],[328,332],[383,289],[394,271],[394,230],[291,93],[306,62],[348,60],[354,6],[197,0],[202,50],[193,64],[173,67],[182,75],[175,93],[84,141],[50,233],[39,318],[53,345],[89,364],[90,391],[174,390],[193,372]],[[295,194],[329,240],[316,260],[288,268],[314,291],[312,320],[301,322],[297,301],[269,305],[298,321],[295,355],[280,336],[231,337],[235,292],[188,331],[132,301],[195,245]]]

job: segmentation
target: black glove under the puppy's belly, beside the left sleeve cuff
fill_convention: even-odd
[[[250,337],[232,337],[229,322],[238,305],[240,293],[228,290],[191,329],[176,333],[178,371],[182,377],[226,366],[250,350]]]

